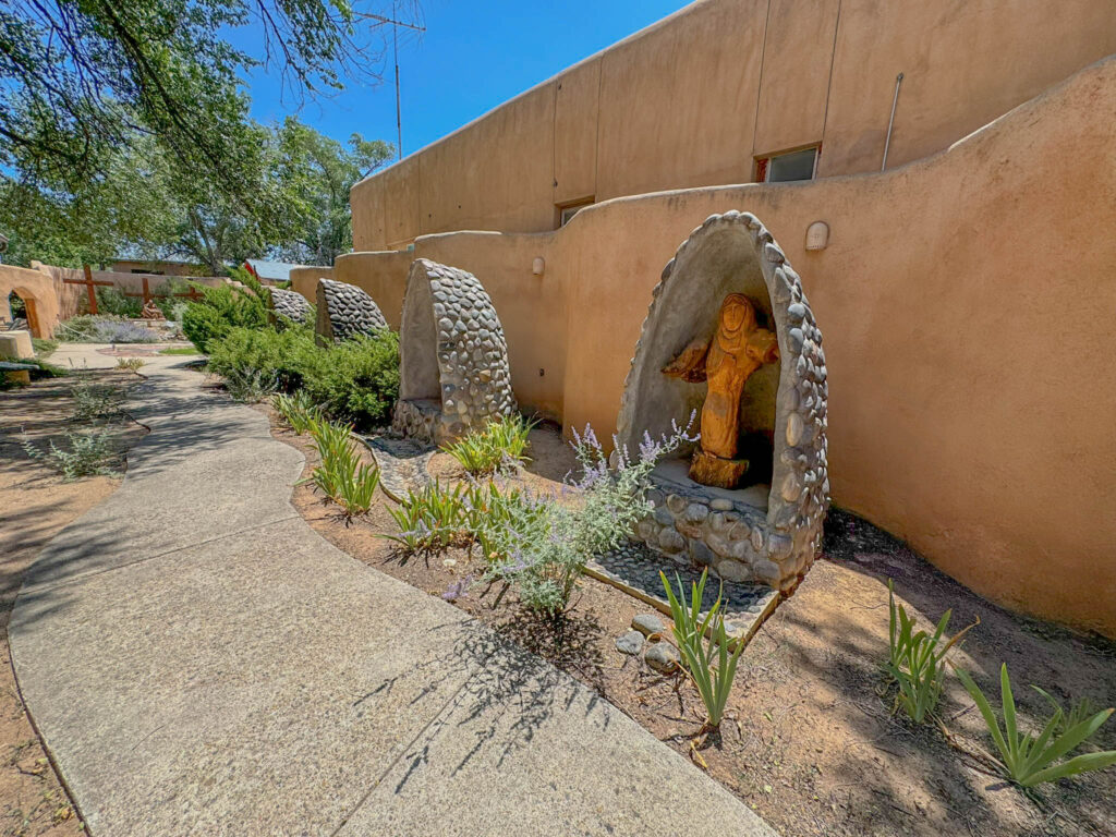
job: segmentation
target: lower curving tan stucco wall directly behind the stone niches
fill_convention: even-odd
[[[754,212],[825,335],[835,502],[991,599],[1116,636],[1116,376],[1090,319],[1116,310],[1114,113],[1116,58],[883,174],[618,199],[414,256],[484,283],[521,403],[606,437],[663,266],[708,215]]]

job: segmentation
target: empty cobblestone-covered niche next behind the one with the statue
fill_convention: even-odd
[[[393,426],[442,443],[517,410],[503,326],[472,273],[417,259],[400,328]]]

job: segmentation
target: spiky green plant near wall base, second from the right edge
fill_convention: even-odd
[[[941,700],[945,655],[980,619],[943,642],[952,610],[942,614],[933,634],[915,631],[915,620],[907,616],[903,605],[895,604],[895,586],[891,579],[887,580],[887,606],[891,657],[884,668],[898,686],[893,711],[902,706],[915,723],[922,723],[937,709]]]

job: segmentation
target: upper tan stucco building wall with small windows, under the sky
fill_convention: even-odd
[[[945,148],[1116,52],[1112,0],[704,0],[353,189],[356,250],[539,232],[557,204],[752,179],[821,143],[821,176]]]

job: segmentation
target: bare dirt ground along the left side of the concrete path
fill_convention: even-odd
[[[126,388],[140,378],[128,372],[81,373],[97,384]],[[70,800],[47,760],[19,696],[8,652],[8,618],[23,574],[62,527],[110,494],[121,480],[89,477],[64,482],[25,453],[20,442],[40,448],[64,444],[76,376],[39,381],[0,392],[0,835],[64,837],[84,834]],[[133,422],[110,425],[122,454],[141,435]]]

